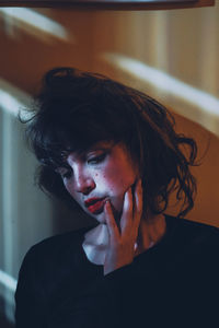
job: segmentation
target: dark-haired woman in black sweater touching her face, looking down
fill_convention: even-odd
[[[194,206],[197,148],[165,107],[103,75],[57,68],[44,77],[27,139],[39,186],[97,224],[30,249],[18,328],[218,321],[219,233],[183,219]],[[164,214],[172,191],[177,218]]]

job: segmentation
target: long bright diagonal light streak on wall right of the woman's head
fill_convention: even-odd
[[[103,58],[162,92],[163,98],[169,96],[170,99],[170,96],[172,96],[189,103],[193,106],[192,108],[187,106],[187,110],[182,110],[182,108],[174,108],[174,110],[194,120],[193,108],[196,108],[195,121],[211,132],[219,134],[219,98],[141,61],[110,52],[104,54]]]

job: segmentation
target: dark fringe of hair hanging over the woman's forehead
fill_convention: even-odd
[[[54,115],[49,121],[41,122],[36,129],[33,147],[37,159],[44,165],[56,169],[67,166],[66,159],[70,152],[85,152],[100,141],[124,141],[130,136],[130,127],[120,114],[102,106],[83,107]],[[113,114],[114,113],[114,114]],[[116,116],[116,117],[115,117]],[[124,121],[124,124],[123,124]],[[39,119],[38,119],[39,122]],[[41,132],[39,132],[41,131]]]

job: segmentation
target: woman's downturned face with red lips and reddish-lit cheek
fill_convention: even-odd
[[[123,210],[124,195],[138,178],[126,148],[99,142],[84,153],[70,153],[69,168],[60,167],[64,185],[72,198],[91,216],[105,223],[104,203],[110,199],[115,219]]]

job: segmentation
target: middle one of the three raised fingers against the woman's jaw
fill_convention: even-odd
[[[126,231],[131,226],[132,215],[134,215],[132,191],[131,191],[131,187],[129,187],[124,197],[123,213],[120,216],[122,233],[126,233]]]

